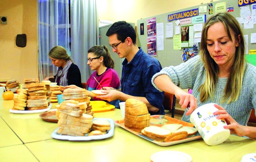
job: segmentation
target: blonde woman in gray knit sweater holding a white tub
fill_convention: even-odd
[[[232,134],[256,139],[256,127],[247,126],[256,108],[256,67],[245,62],[245,41],[240,24],[229,13],[210,17],[202,30],[200,55],[156,73],[152,84],[175,94],[181,108],[190,109],[182,120],[190,122],[194,109],[216,103],[218,119],[225,118]],[[182,89],[193,89],[192,94]]]

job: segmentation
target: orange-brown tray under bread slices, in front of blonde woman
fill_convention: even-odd
[[[181,121],[178,119],[174,119],[172,117],[169,116],[165,116],[165,115],[151,115],[150,119],[149,119],[149,125],[155,125],[155,126],[159,126],[162,127],[164,124],[182,124],[184,126],[190,126],[193,127],[194,125],[185,121]],[[189,136],[185,139],[181,139],[181,140],[176,140],[176,141],[171,141],[171,142],[159,142],[159,141],[154,141],[151,138],[148,138],[146,136],[143,136],[141,134],[141,132],[136,132],[134,130],[131,130],[127,127],[124,126],[124,120],[117,120],[115,121],[115,124],[124,128],[125,130],[141,137],[144,138],[150,142],[153,142],[159,146],[171,146],[171,145],[175,145],[175,144],[179,144],[179,143],[183,143],[183,142],[188,142],[188,141],[193,141],[193,140],[197,140],[197,139],[201,139],[202,137],[199,135],[199,133],[197,132],[196,135],[194,136]]]

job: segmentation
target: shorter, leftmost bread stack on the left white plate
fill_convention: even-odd
[[[18,93],[14,94],[13,97],[13,110],[25,110],[26,108],[26,100],[27,100],[27,90],[23,88],[17,89]]]

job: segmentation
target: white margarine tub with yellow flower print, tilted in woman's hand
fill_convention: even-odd
[[[207,145],[218,145],[226,141],[230,136],[230,130],[224,129],[227,125],[224,119],[216,119],[212,113],[218,109],[214,103],[202,105],[195,109],[190,116],[190,122],[194,124],[199,134]]]

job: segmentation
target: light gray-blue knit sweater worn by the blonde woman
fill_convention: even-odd
[[[219,104],[225,108],[239,124],[247,125],[251,110],[256,108],[256,67],[249,63],[246,63],[245,67],[243,87],[238,100],[230,104],[220,103],[228,78],[218,78],[213,100],[208,98],[205,102],[200,102],[200,92],[198,92],[198,88],[204,83],[206,76],[206,70],[200,56],[195,56],[175,67],[170,66],[163,68],[153,76],[152,84],[156,89],[161,91],[156,87],[153,81],[156,76],[166,74],[172,79],[173,83],[181,89],[192,89],[192,95],[197,98],[198,107],[207,103]],[[190,122],[190,115],[186,116],[185,113],[183,114],[182,120]]]

